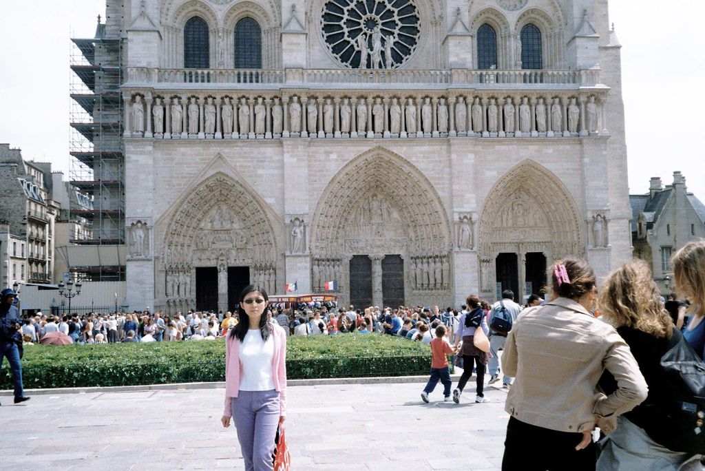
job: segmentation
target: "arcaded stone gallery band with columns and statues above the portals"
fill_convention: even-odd
[[[125,137],[608,135],[606,87],[580,90],[124,90]]]

